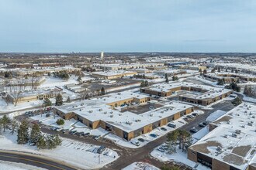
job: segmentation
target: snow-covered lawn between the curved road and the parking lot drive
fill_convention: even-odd
[[[9,131],[1,134],[0,149],[43,155],[44,157],[53,160],[67,162],[67,164],[86,169],[101,168],[119,157],[116,151],[112,151],[109,148],[106,148],[106,150],[99,155],[96,152],[100,146],[90,145],[66,138],[62,138],[62,145],[53,150],[38,150],[35,146],[17,145],[16,138],[16,133],[10,134]]]

